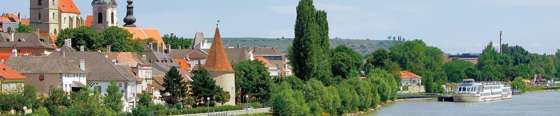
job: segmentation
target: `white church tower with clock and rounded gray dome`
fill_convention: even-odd
[[[94,8],[94,19],[91,27],[95,28],[97,32],[102,32],[107,27],[119,26],[119,21],[116,18],[117,5],[115,0],[92,1],[91,6]]]

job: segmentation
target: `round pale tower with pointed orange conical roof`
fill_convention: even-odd
[[[230,101],[227,101],[224,105],[235,105],[235,71],[231,68],[230,59],[223,48],[220,29],[216,25],[216,34],[214,34],[214,40],[208,51],[204,68],[208,69],[208,75],[216,80],[216,85],[220,86],[223,91],[230,93]]]

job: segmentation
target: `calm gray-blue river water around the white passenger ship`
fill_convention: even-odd
[[[512,99],[456,103],[437,99],[384,104],[372,115],[560,115],[560,91],[524,93]]]

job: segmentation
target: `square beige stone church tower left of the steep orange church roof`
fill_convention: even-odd
[[[58,0],[31,0],[29,11],[31,27],[48,30],[49,35],[57,35],[60,32]]]

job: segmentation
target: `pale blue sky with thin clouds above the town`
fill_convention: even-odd
[[[119,25],[126,0],[119,3]],[[91,0],[74,0],[82,18],[91,15]],[[29,16],[29,1],[0,0],[0,12]],[[193,38],[212,37],[220,20],[222,37],[292,38],[296,0],[134,1],[139,27],[157,28]],[[330,38],[386,40],[402,36],[422,39],[449,54],[480,53],[490,41],[519,45],[529,52],[554,54],[560,49],[560,1],[336,1],[315,0],[328,13]]]

